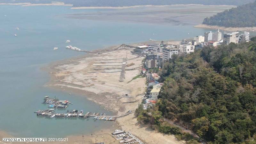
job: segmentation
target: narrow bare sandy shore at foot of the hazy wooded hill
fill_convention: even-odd
[[[210,25],[204,25],[200,24],[197,26],[194,26],[195,28],[210,28],[210,29],[221,29],[224,31],[251,31],[256,30],[256,27],[221,27],[221,26],[210,26]]]

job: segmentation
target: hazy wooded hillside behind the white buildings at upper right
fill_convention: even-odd
[[[256,26],[256,1],[217,13],[205,18],[203,24],[224,27],[253,27]]]

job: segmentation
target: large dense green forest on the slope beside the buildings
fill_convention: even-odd
[[[188,139],[161,117],[188,127],[208,143],[256,143],[256,38],[174,55],[159,71],[156,106],[138,108],[138,121]],[[188,140],[190,140],[189,138]]]

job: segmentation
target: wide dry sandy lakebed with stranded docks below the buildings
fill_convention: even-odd
[[[142,66],[142,60],[144,59],[144,57],[138,57],[138,55],[133,55],[130,51],[131,50],[119,49],[113,52],[106,52],[103,54],[87,54],[86,56],[77,59],[69,59],[57,62],[53,64],[51,67],[49,67],[51,81],[45,84],[45,86],[54,87],[66,92],[78,93],[84,96],[85,98],[100,104],[104,108],[113,111],[116,115],[124,114],[129,110],[135,110],[138,107],[138,104],[140,103],[141,99],[143,98],[143,93],[145,92],[145,89],[147,87],[145,77],[132,80],[133,77],[140,74],[141,68],[134,70],[126,70],[124,81],[119,82],[120,72],[115,71],[120,69],[121,66],[93,65],[95,64],[95,61],[103,61],[96,59],[127,58],[126,64],[134,63],[134,65],[126,68],[132,69]],[[108,69],[104,69],[106,67]],[[92,71],[104,71],[110,73],[90,73]],[[134,98],[118,98],[124,94],[134,96]],[[138,101],[133,103],[124,103],[136,100]],[[128,116],[117,118],[116,127],[118,126],[123,130],[131,132],[145,143],[182,143],[179,140],[177,140],[174,137],[174,135],[163,135],[161,133],[155,132],[154,130],[148,128],[147,126],[139,124],[137,122],[136,117],[134,116],[134,113]],[[96,135],[98,135],[99,138],[100,135],[106,132],[110,134],[111,130],[108,129],[104,132],[100,131],[97,132]],[[91,136],[86,135],[85,137]],[[114,140],[114,138],[110,140]],[[104,142],[108,143],[108,141]]]

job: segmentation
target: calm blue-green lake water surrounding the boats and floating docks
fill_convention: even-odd
[[[84,97],[43,86],[49,81],[49,76],[41,70],[42,67],[52,61],[84,54],[66,49],[68,44],[65,42],[68,39],[73,46],[94,50],[110,45],[147,41],[149,38],[181,40],[203,35],[207,31],[193,28],[192,25],[80,20],[63,16],[97,11],[108,10],[0,5],[0,130],[16,137],[64,137],[71,134],[89,134],[111,125],[110,122],[104,124],[104,121],[94,121],[92,118],[47,119],[33,113],[48,107],[41,104],[45,95],[71,101],[74,105],[70,105],[68,109],[106,112]],[[16,27],[20,30],[16,30]],[[59,49],[54,51],[54,47]]]

